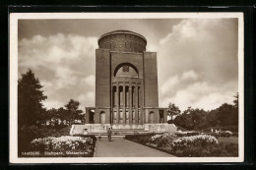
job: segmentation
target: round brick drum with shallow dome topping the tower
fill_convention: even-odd
[[[114,30],[102,34],[97,43],[101,49],[143,53],[143,51],[146,51],[147,39],[143,35],[130,30]]]

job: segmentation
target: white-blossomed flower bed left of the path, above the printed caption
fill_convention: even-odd
[[[42,157],[92,157],[95,151],[96,138],[94,137],[47,137],[34,139],[31,142],[30,152],[23,156]]]

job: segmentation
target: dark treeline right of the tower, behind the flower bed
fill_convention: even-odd
[[[188,107],[180,113],[173,114],[169,107],[169,114],[176,115],[174,120],[169,120],[168,123],[174,123],[180,128],[195,131],[210,131],[211,129],[229,130],[232,132],[238,131],[238,93],[234,95],[233,104],[222,104],[219,108],[211,111],[204,109],[193,109]],[[176,107],[174,105],[174,107]],[[177,110],[177,107],[176,107]]]

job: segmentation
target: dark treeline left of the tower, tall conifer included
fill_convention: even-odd
[[[85,114],[79,109],[80,103],[74,99],[60,108],[46,109],[42,101],[47,98],[41,90],[43,86],[35,78],[32,70],[22,75],[18,81],[18,126],[51,126],[62,128],[74,123],[83,123]]]

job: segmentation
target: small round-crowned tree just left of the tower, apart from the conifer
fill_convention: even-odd
[[[80,102],[73,99],[71,99],[69,103],[65,105],[65,107],[67,108],[67,112],[69,114],[69,125],[71,125],[71,123],[74,122],[74,120],[79,120],[81,118],[81,113],[83,113],[83,111],[79,110],[79,105]]]

